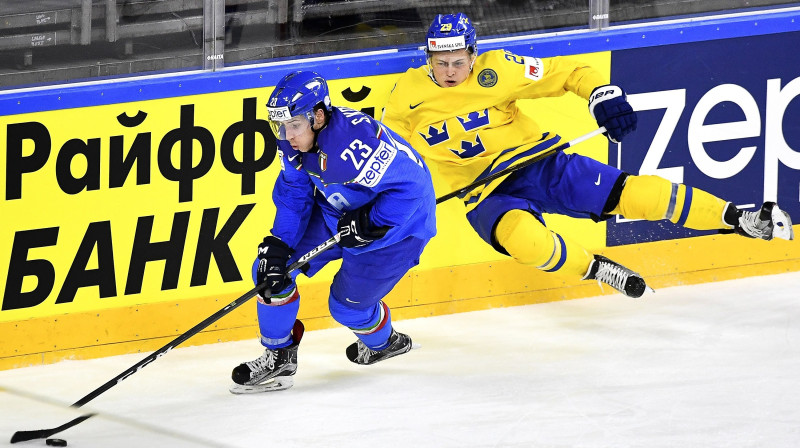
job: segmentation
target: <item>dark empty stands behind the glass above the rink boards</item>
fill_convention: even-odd
[[[480,37],[795,3],[781,0],[2,0],[0,89],[421,45],[438,13]]]

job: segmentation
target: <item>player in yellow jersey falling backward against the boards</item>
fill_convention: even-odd
[[[516,101],[568,92],[589,103],[607,137],[636,129],[622,88],[571,58],[538,59],[502,50],[478,55],[476,31],[462,14],[438,15],[427,35],[428,64],[401,75],[383,122],[425,158],[439,191],[455,191],[559,144]],[[547,272],[611,285],[629,297],[647,286],[636,272],[546,227],[542,213],[595,221],[622,215],[750,238],[792,239],[789,215],[766,202],[738,210],[705,191],[658,176],[631,175],[589,157],[557,151],[460,195],[467,219],[497,251]]]

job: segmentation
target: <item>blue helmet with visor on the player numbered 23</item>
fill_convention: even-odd
[[[289,73],[278,81],[272,95],[267,101],[269,124],[272,132],[281,140],[286,140],[286,123],[295,125],[314,124],[314,108],[319,107],[331,112],[331,95],[328,83],[318,73],[297,71]],[[293,117],[304,117],[304,121],[292,120]]]

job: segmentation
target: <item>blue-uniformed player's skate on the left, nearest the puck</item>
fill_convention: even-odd
[[[266,349],[258,358],[233,369],[231,393],[252,394],[284,390],[294,385],[297,372],[297,347],[303,337],[303,323],[295,321],[292,344],[288,347]]]

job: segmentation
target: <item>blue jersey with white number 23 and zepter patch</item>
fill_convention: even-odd
[[[436,234],[428,167],[405,140],[369,115],[334,107],[315,149],[303,153],[278,140],[278,158],[272,234],[289,247],[302,237],[315,202],[333,233],[344,212],[374,204],[372,222],[391,229],[371,244],[347,249],[355,253]]]

